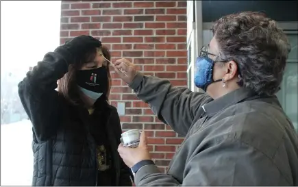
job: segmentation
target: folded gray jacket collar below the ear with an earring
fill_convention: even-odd
[[[238,88],[232,92],[223,95],[219,99],[215,99],[210,101],[210,103],[206,103],[202,106],[203,110],[206,114],[211,117],[214,116],[217,112],[228,108],[231,105],[235,105],[236,103],[240,103],[241,101],[256,96],[256,93],[247,89],[247,88]]]

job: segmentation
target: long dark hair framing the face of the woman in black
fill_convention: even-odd
[[[111,56],[108,48],[102,46],[99,49],[101,49],[105,58],[110,61]],[[58,80],[58,92],[61,95],[63,95],[66,98],[66,100],[72,103],[73,105],[84,105],[84,103],[82,102],[82,99],[80,99],[79,89],[75,82],[75,73],[77,70],[82,68],[84,63],[94,60],[97,55],[98,55],[97,48],[88,50],[88,53],[85,53],[84,57],[82,58],[81,63],[72,64],[71,66],[69,66],[69,72],[66,73],[61,79]],[[108,62],[105,67],[106,67],[106,70],[108,71],[108,92],[106,95],[106,99],[108,101],[108,97],[110,95],[110,90],[112,86],[112,79],[111,79]]]

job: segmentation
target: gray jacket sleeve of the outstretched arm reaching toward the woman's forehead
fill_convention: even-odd
[[[134,89],[139,99],[149,103],[160,121],[182,136],[186,136],[202,103],[210,99],[204,93],[173,87],[166,79],[141,73],[137,73],[129,87]]]

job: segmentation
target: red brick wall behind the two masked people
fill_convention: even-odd
[[[61,43],[81,34],[94,36],[110,49],[112,61],[127,58],[147,75],[187,86],[186,1],[62,1],[61,7]],[[110,101],[115,106],[125,102],[123,130],[145,129],[152,158],[165,171],[182,138],[111,73]]]

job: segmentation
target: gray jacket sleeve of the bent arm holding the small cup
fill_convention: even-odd
[[[285,181],[270,158],[233,138],[197,153],[181,172],[183,181],[178,182],[147,165],[136,173],[135,182],[137,186],[275,186]],[[265,173],[271,177],[264,177]]]

